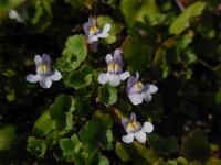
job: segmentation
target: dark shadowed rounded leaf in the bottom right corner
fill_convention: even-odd
[[[200,130],[194,130],[182,139],[182,151],[188,160],[206,162],[210,156],[210,144]]]

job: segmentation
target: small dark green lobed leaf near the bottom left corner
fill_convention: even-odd
[[[27,150],[38,157],[43,157],[46,152],[46,143],[43,140],[29,136]]]

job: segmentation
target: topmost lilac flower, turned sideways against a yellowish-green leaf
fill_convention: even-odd
[[[88,22],[83,24],[88,44],[94,44],[98,42],[98,38],[106,38],[109,36],[108,32],[110,31],[112,25],[105,24],[103,31],[96,26],[94,19],[88,19]]]

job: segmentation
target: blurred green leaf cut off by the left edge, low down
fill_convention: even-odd
[[[9,150],[15,142],[15,128],[13,125],[0,127],[0,151]]]

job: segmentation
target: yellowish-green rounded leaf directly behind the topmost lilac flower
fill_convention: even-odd
[[[112,25],[109,36],[105,38],[105,43],[113,44],[117,41],[116,35],[122,31],[123,26],[119,23],[115,23],[114,20],[108,15],[101,15],[97,18],[97,25],[103,29],[106,23]]]

